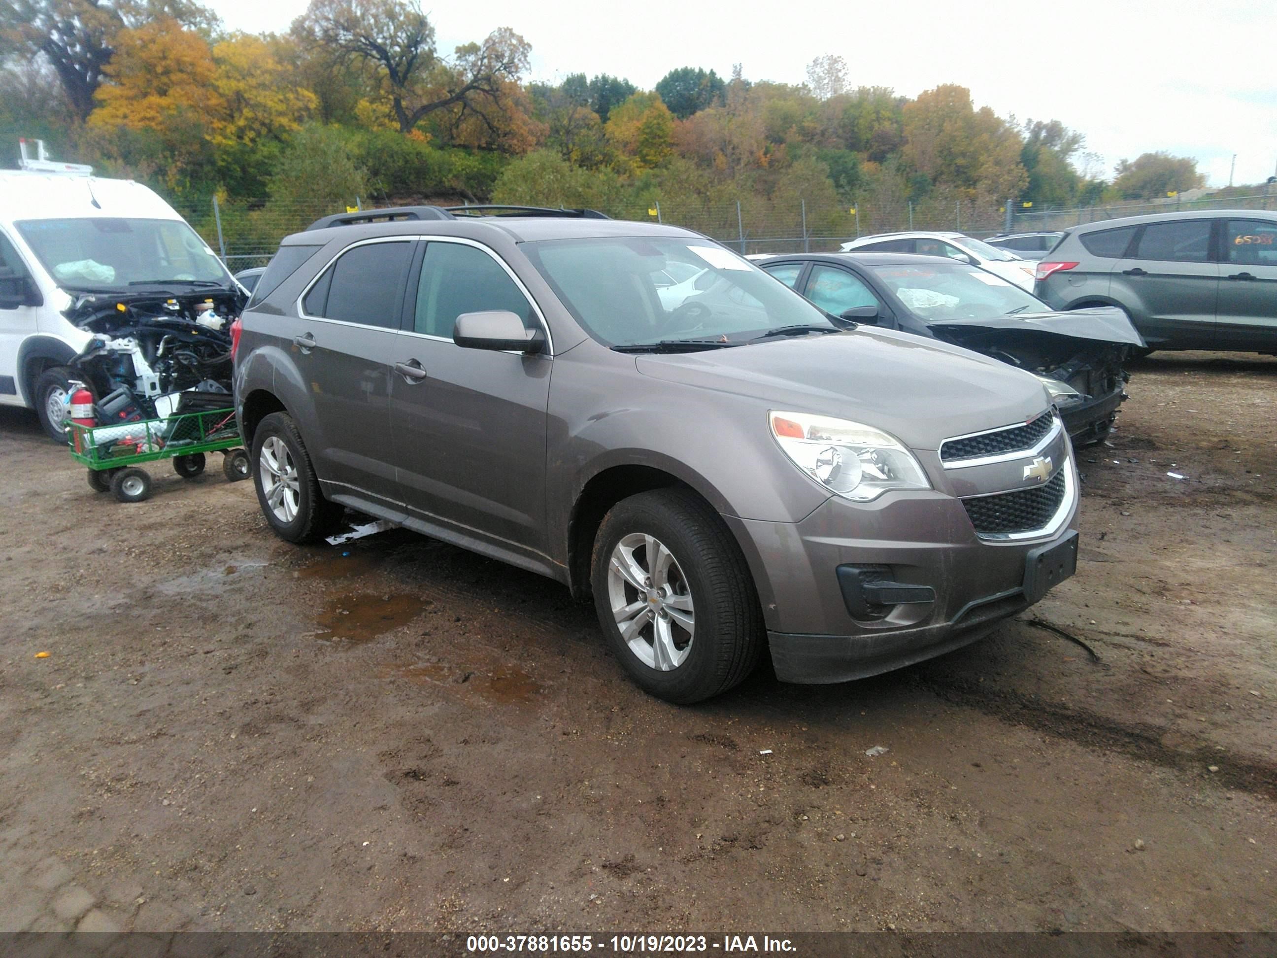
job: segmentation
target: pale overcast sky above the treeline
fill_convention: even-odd
[[[287,29],[305,0],[212,0],[227,28]],[[612,73],[650,88],[677,66],[741,63],[748,79],[802,83],[839,54],[853,86],[907,96],[969,87],[977,106],[1056,119],[1085,134],[1102,175],[1166,149],[1213,186],[1277,174],[1274,0],[974,0],[751,4],[719,0],[423,3],[439,51],[512,27],[533,45],[533,79]]]

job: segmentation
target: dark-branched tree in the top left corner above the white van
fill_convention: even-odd
[[[211,32],[217,17],[193,0],[6,0],[0,5],[0,56],[43,56],[83,120],[115,52],[120,31],[156,19]]]

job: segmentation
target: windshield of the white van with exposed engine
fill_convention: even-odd
[[[68,289],[231,285],[221,261],[181,220],[94,217],[15,225],[57,285]]]

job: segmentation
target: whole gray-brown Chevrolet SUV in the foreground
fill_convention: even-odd
[[[672,701],[764,649],[790,682],[939,655],[1077,567],[1038,379],[833,319],[688,230],[329,217],[283,240],[236,335],[281,538],[349,506],[549,576]]]

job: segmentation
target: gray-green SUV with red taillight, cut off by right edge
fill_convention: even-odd
[[[1037,266],[1054,309],[1126,310],[1151,350],[1277,353],[1277,213],[1133,216],[1065,232]]]

